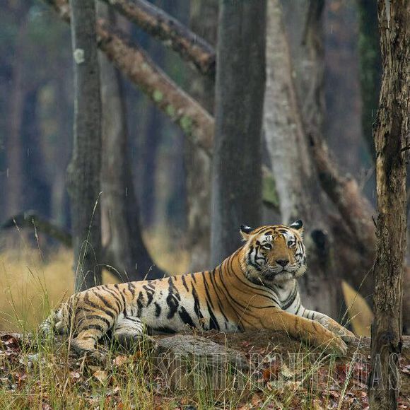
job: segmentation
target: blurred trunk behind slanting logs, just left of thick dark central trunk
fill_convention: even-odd
[[[216,46],[218,1],[191,2],[192,30]],[[215,81],[210,76],[192,73],[189,92],[210,113],[213,113]],[[191,271],[211,269],[211,160],[185,139],[185,168],[187,170],[187,237],[191,252]]]

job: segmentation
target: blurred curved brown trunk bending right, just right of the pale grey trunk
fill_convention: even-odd
[[[322,189],[351,229],[356,245],[361,252],[365,247],[368,259],[373,261],[375,235],[371,221],[372,207],[361,194],[356,180],[339,175],[324,139],[323,7],[324,1],[311,0],[309,4],[295,2],[295,14],[305,16],[303,30],[300,30],[300,37],[294,39],[293,47],[297,73],[295,83],[298,98],[303,101],[303,126]],[[368,268],[370,266],[371,263]]]

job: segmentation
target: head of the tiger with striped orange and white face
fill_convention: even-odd
[[[305,273],[303,223],[300,219],[289,226],[266,225],[254,229],[241,225],[240,233],[246,241],[242,247],[241,266],[252,282],[281,283]]]

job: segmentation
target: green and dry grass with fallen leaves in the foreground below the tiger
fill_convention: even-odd
[[[199,358],[171,356],[160,365],[151,346],[124,351],[108,343],[105,362],[98,363],[69,353],[61,338],[33,334],[17,345],[3,336],[0,409],[348,409],[351,403],[351,395],[345,399],[353,371],[347,368],[337,381],[334,357],[315,351],[312,360],[305,346],[295,360],[281,363],[272,361],[272,346],[258,361],[250,358],[254,368],[247,372],[221,361],[218,377],[216,367]],[[329,389],[336,382],[338,397]]]

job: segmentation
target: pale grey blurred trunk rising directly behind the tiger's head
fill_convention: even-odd
[[[264,131],[279,194],[281,220],[305,222],[308,271],[300,279],[303,303],[338,317],[339,276],[327,234],[329,201],[312,162],[293,81],[293,65],[279,0],[268,1]]]

